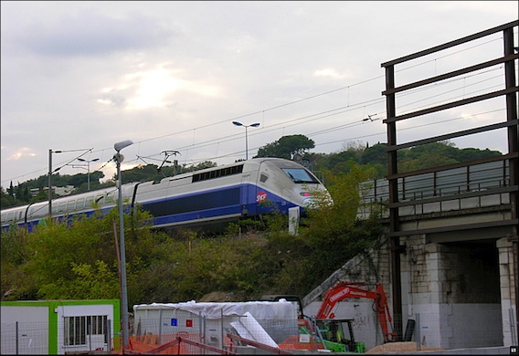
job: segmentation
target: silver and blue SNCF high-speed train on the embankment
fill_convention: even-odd
[[[183,173],[159,183],[122,184],[125,211],[137,204],[154,216],[153,225],[217,225],[274,210],[288,214],[290,208],[312,203],[315,192],[326,188],[314,174],[297,162],[279,158],[248,161]],[[52,201],[52,217],[91,215],[94,206],[107,212],[117,204],[118,189],[105,188],[60,197]],[[2,229],[16,224],[28,231],[48,216],[48,202],[2,210]]]

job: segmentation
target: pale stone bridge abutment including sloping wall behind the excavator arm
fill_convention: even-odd
[[[517,277],[512,243],[492,236],[452,244],[429,239],[425,235],[401,239],[406,247],[401,255],[404,315],[393,317],[402,318],[404,331],[408,319],[414,319],[413,341],[446,350],[514,345]],[[369,255],[348,261],[303,298],[305,315],[316,314],[324,292],[339,280],[382,282],[392,312],[386,242]],[[337,319],[355,319],[355,339],[364,341],[366,350],[382,343],[370,300],[348,299],[339,303],[335,314]]]

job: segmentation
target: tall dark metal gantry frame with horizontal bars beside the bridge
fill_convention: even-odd
[[[502,26],[496,26],[488,30],[473,34],[468,37],[462,37],[437,47],[430,47],[419,51],[408,56],[397,58],[381,64],[382,68],[386,70],[386,90],[382,92],[386,96],[386,109],[387,119],[384,122],[387,124],[387,181],[389,183],[389,246],[391,250],[391,278],[392,278],[392,292],[393,292],[393,314],[395,316],[402,315],[402,291],[401,291],[401,278],[400,278],[400,254],[405,251],[405,246],[400,245],[400,237],[406,236],[400,231],[400,219],[398,215],[398,209],[402,206],[402,202],[398,202],[398,179],[405,178],[413,175],[423,173],[423,170],[398,173],[397,170],[397,152],[408,147],[418,146],[427,144],[435,141],[448,140],[455,137],[468,136],[475,133],[493,131],[497,129],[506,128],[507,130],[507,141],[508,141],[508,152],[499,157],[502,161],[508,161],[510,166],[510,182],[506,191],[510,194],[511,202],[511,218],[496,222],[495,225],[507,225],[510,226],[511,234],[509,236],[510,241],[513,243],[514,248],[514,270],[517,271],[517,225],[518,215],[517,209],[519,205],[519,158],[518,158],[518,120],[517,120],[517,93],[519,92],[517,81],[515,78],[515,65],[517,63],[517,44],[514,45],[514,28],[519,24],[519,21],[513,21]],[[412,59],[421,58],[441,50],[445,50],[450,47],[456,47],[461,44],[471,42],[473,40],[488,37],[495,33],[503,33],[503,57],[494,58],[493,60],[485,61],[470,67],[461,68],[458,70],[451,71],[449,73],[441,74],[438,76],[430,77],[428,79],[418,80],[413,83],[409,83],[403,86],[395,86],[395,66],[402,64]],[[454,100],[447,103],[443,103],[438,106],[429,107],[423,110],[416,110],[408,112],[406,114],[397,115],[397,103],[396,94],[404,92],[409,89],[417,89],[431,83],[437,83],[441,80],[452,79],[461,75],[481,70],[483,68],[489,68],[495,65],[503,64],[503,77],[504,77],[504,89],[486,92],[484,94],[476,95],[470,98]],[[418,141],[411,141],[406,143],[397,142],[397,122],[407,120],[410,118],[416,118],[422,115],[426,115],[433,112],[439,112],[441,110],[449,110],[462,105],[475,103],[478,101],[504,97],[506,101],[506,120],[493,124],[480,126],[470,130],[456,131],[449,134],[440,135],[436,137],[424,138]],[[489,158],[488,162],[495,161],[495,157]],[[479,160],[479,163],[485,162],[485,160]],[[458,166],[470,166],[475,162],[462,162],[457,164]],[[445,170],[446,167],[431,167],[428,172],[440,172]],[[497,193],[497,192],[496,192]],[[489,194],[485,192],[482,194]],[[419,204],[414,202],[413,204]],[[404,203],[405,204],[405,203]],[[492,224],[490,224],[492,225]],[[477,224],[473,225],[459,225],[450,226],[454,229],[462,228],[477,228]],[[492,227],[492,226],[491,226]],[[439,228],[439,232],[440,232]],[[434,232],[429,231],[428,233]],[[425,233],[416,230],[413,232],[414,235]],[[519,316],[518,310],[518,283],[515,284],[515,309],[516,319]],[[395,319],[395,331],[398,336],[402,336],[402,319]]]

